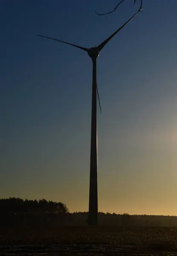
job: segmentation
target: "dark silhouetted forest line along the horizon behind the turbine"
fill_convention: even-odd
[[[61,202],[0,199],[0,226],[86,226],[88,212],[70,213]],[[99,212],[100,226],[177,227],[177,216]]]

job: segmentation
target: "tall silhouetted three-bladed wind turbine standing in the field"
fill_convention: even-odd
[[[91,118],[91,148],[90,148],[90,188],[89,188],[89,214],[88,214],[88,224],[90,226],[98,225],[98,184],[97,184],[97,111],[96,111],[96,95],[99,93],[96,83],[96,59],[99,56],[99,52],[103,49],[103,47],[113,38],[125,25],[127,25],[140,11],[142,8],[136,12],[127,22],[124,23],[119,29],[117,29],[110,37],[108,37],[105,41],[99,44],[97,47],[85,48],[75,44],[70,44],[61,40],[57,40],[55,38],[49,38],[43,35],[38,35],[44,38],[49,38],[64,44],[69,44],[73,47],[77,47],[78,49],[84,50],[87,52],[89,57],[93,62],[93,79],[92,79],[92,118]],[[100,106],[100,101],[99,101]],[[101,111],[101,106],[100,106]],[[101,111],[102,112],[102,111]]]

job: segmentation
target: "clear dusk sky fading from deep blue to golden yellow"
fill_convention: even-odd
[[[88,211],[94,47],[140,0],[0,1],[0,198]],[[176,0],[143,9],[100,52],[99,211],[177,215]]]

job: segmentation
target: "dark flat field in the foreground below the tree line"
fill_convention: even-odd
[[[170,227],[0,229],[0,256],[177,256],[176,243]]]

